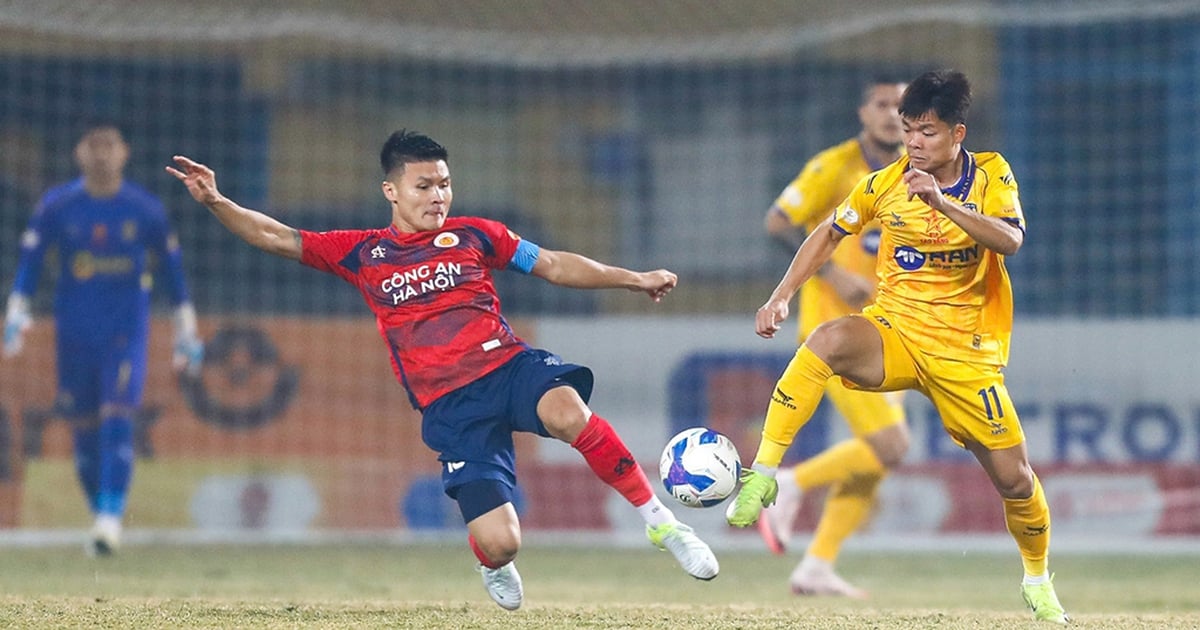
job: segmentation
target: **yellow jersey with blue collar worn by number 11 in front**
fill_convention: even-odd
[[[1004,157],[966,150],[962,155],[959,181],[942,193],[1024,232],[1016,180]],[[864,226],[880,226],[875,304],[919,349],[961,361],[1007,364],[1013,289],[1004,257],[919,198],[910,200],[906,170],[907,156],[863,178],[838,206],[834,229],[858,234]]]

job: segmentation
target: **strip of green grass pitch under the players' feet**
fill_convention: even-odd
[[[1031,628],[1016,553],[847,552],[866,601],[796,598],[798,557],[719,553],[700,582],[666,553],[529,545],[526,601],[487,599],[464,545],[0,550],[0,628],[715,629]],[[1200,628],[1196,556],[1058,554],[1079,628]]]

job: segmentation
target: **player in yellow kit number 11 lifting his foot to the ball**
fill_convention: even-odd
[[[1025,216],[1004,158],[962,149],[970,103],[960,72],[913,80],[900,101],[907,155],[854,186],[804,240],[755,314],[757,334],[773,337],[792,295],[839,242],[880,222],[875,301],[860,314],[817,326],[797,350],[726,520],[748,527],[775,500],[775,469],[830,377],[863,390],[913,389],[932,401],[946,432],[974,455],[1000,492],[1025,569],[1021,594],[1034,618],[1067,623],[1046,568],[1050,509],[1001,372],[1013,329],[1004,257],[1021,247]]]

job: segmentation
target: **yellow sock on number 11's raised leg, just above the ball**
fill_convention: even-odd
[[[755,463],[775,468],[784,461],[784,452],[791,446],[796,432],[812,418],[812,412],[821,403],[826,380],[832,376],[833,370],[808,346],[796,350],[796,356],[787,364],[770,395]]]

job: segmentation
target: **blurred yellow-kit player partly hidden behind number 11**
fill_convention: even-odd
[[[833,214],[863,176],[901,155],[900,96],[905,85],[876,79],[863,89],[858,107],[862,131],[810,160],[767,212],[767,232],[794,251],[804,235]],[[880,226],[872,222],[847,235],[828,263],[800,288],[799,341],[818,325],[859,312],[875,296],[875,259]],[[782,553],[804,491],[828,486],[821,521],[790,583],[798,595],[865,596],[834,571],[841,544],[870,514],[880,482],[908,449],[900,392],[850,389],[840,378],[826,382],[824,395],[850,425],[853,438],[840,442],[793,468],[781,468],[779,498],[758,521],[767,546]]]

